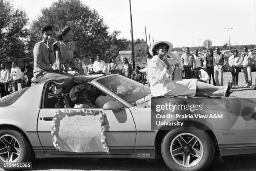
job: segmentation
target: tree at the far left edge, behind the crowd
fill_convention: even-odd
[[[14,9],[8,1],[0,1],[0,59],[23,60],[27,54],[28,16]]]

